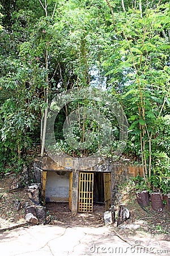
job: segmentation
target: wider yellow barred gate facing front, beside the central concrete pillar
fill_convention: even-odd
[[[79,212],[93,211],[93,190],[94,190],[94,174],[91,172],[79,173]]]

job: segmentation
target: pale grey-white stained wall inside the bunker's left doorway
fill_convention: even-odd
[[[47,172],[45,201],[69,201],[69,172]]]

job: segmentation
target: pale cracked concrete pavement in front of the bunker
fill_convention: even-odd
[[[170,255],[170,242],[121,238],[112,228],[31,226],[0,234],[1,255]],[[130,244],[129,244],[129,243]]]

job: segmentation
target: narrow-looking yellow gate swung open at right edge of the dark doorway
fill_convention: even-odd
[[[105,210],[111,207],[111,173],[104,173],[104,202]]]

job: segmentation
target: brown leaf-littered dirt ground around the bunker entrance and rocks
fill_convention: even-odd
[[[27,189],[22,188],[15,192],[9,192],[10,189],[19,184],[20,176],[10,174],[2,177],[0,180],[0,225],[1,228],[10,228],[14,224],[24,223],[24,204],[28,202],[33,205],[28,198]],[[125,225],[120,227],[113,224],[115,232],[120,236],[146,237],[151,234],[152,237],[170,241],[170,212],[164,207],[162,212],[152,210],[151,207],[141,208],[137,203],[134,191],[129,191],[129,188],[123,188],[120,191],[120,197],[115,204],[125,204],[130,210],[130,218],[125,222]],[[17,210],[15,201],[19,200],[22,207]],[[102,227],[104,226],[103,213],[105,212],[104,204],[94,204],[94,212],[92,213],[71,213],[69,203],[46,203],[46,218],[50,225],[57,226],[89,226]],[[116,211],[117,216],[117,211]],[[42,225],[43,221],[40,221]],[[138,229],[130,228],[130,225],[140,225]],[[128,228],[129,227],[129,228]]]

